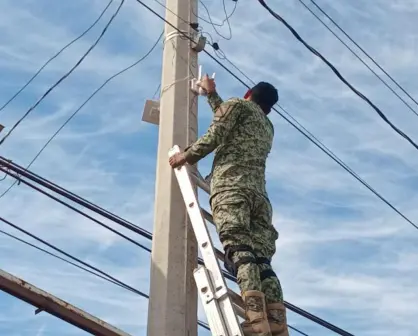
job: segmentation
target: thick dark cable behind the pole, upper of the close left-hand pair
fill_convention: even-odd
[[[67,199],[70,199],[73,202],[76,202],[77,204],[79,204],[83,207],[86,207],[87,209],[89,209],[93,212],[96,212],[97,214],[99,214],[99,215],[101,215],[101,216],[103,216],[103,217],[105,217],[109,220],[112,220],[113,222],[115,222],[117,224],[120,224],[120,225],[126,227],[127,229],[130,229],[131,231],[142,235],[143,237],[145,237],[149,240],[152,240],[152,238],[153,238],[151,232],[148,232],[145,229],[142,229],[142,228],[130,223],[129,221],[111,213],[110,211],[107,211],[107,210],[95,205],[94,203],[89,202],[89,201],[85,200],[84,198],[82,198],[82,197],[80,197],[80,196],[78,196],[78,195],[76,195],[72,192],[67,191],[66,189],[54,184],[51,181],[48,181],[45,178],[41,178],[38,175],[36,175],[34,173],[31,173],[30,171],[25,170],[23,167],[20,167],[15,163],[8,162],[3,157],[0,157],[0,170],[2,170],[1,165],[9,168],[9,172],[13,171],[17,175],[21,175],[25,178],[28,178],[28,179],[44,186],[45,188],[48,188],[48,189],[60,194],[61,196],[66,197]],[[21,180],[20,177],[19,177],[19,179]],[[203,260],[201,258],[198,258],[198,263],[200,265],[204,265]],[[235,283],[237,282],[236,277],[232,276],[227,271],[222,270],[222,273],[225,276],[225,278],[227,278],[228,280],[231,280]],[[327,329],[333,330],[333,331],[339,333],[340,335],[352,336],[351,334],[343,331],[342,329],[334,326],[333,324],[331,324],[331,323],[329,323],[329,322],[327,322],[327,321],[325,321],[325,320],[323,320],[323,319],[321,319],[321,318],[319,318],[315,315],[312,315],[311,313],[309,313],[309,312],[307,312],[307,311],[305,311],[305,310],[303,310],[303,309],[301,309],[301,308],[299,308],[299,307],[297,307],[297,306],[295,306],[291,303],[288,303],[287,301],[285,301],[284,303],[285,303],[285,305],[288,309],[292,310],[296,314],[299,314],[299,315],[301,315],[305,318],[308,318],[309,320],[311,320],[315,323],[318,323],[318,324],[320,324],[321,326],[323,326]]]

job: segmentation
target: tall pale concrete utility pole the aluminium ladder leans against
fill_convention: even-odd
[[[196,0],[167,0],[166,20],[187,36],[195,31]],[[182,18],[182,19],[180,19]],[[148,336],[196,336],[197,291],[193,269],[197,245],[186,207],[168,164],[168,151],[197,138],[197,53],[190,40],[166,24],[159,113],[159,138],[152,243]]]

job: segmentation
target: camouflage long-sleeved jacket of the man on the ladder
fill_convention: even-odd
[[[221,191],[251,189],[267,195],[265,170],[274,128],[260,107],[251,101],[231,98],[225,102],[217,93],[209,95],[214,112],[208,131],[185,151],[195,164],[215,151],[211,195]]]

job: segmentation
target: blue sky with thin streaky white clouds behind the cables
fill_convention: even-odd
[[[202,1],[214,20],[223,20],[220,0]],[[145,2],[163,14],[155,1]],[[413,97],[418,97],[417,2],[317,2]],[[310,4],[308,0],[305,3]],[[105,0],[1,1],[0,105],[49,57],[85,30],[106,4]],[[115,1],[89,34],[54,60],[0,112],[2,124],[13,125],[75,64],[100,34],[117,4]],[[232,1],[226,4],[228,10],[233,8]],[[299,1],[270,1],[269,5],[418,141],[414,132],[418,117]],[[202,7],[200,13],[206,15]],[[281,105],[293,117],[405,215],[418,221],[415,149],[256,1],[239,1],[231,25],[232,39],[223,40],[202,22],[204,31],[219,42],[230,60],[254,81],[274,83]],[[162,29],[159,18],[136,1],[126,0],[98,46],[16,129],[2,146],[1,155],[28,164],[98,86],[149,50]],[[220,30],[228,36],[226,27]],[[161,55],[159,43],[151,57],[109,83],[32,166],[34,172],[149,231],[158,129],[142,123],[141,115],[145,100],[152,98],[159,85]],[[213,61],[202,56],[200,62],[208,73],[217,73],[223,97],[243,95],[243,86]],[[199,114],[199,132],[203,133],[211,117],[203,98]],[[416,335],[418,232],[280,116],[272,114],[271,120],[276,137],[267,178],[274,222],[280,232],[274,265],[286,300],[355,335]],[[202,162],[201,171],[208,172],[210,164],[209,159]],[[9,178],[0,182],[0,191],[12,182]],[[204,201],[206,198],[202,198]],[[148,292],[149,254],[112,232],[23,185],[0,199],[0,209],[6,219]],[[0,228],[20,236],[4,224]],[[145,239],[120,230],[151,246]],[[132,335],[146,334],[145,299],[2,235],[0,267]],[[45,313],[35,316],[34,310],[0,293],[0,334],[85,335]],[[205,319],[201,312],[200,317]],[[289,323],[309,335],[332,335],[291,312]],[[208,333],[199,329],[199,335]]]

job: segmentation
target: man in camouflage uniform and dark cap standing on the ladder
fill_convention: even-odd
[[[223,102],[207,75],[200,87],[214,112],[213,122],[194,144],[172,156],[170,165],[193,165],[215,151],[210,204],[225,268],[237,277],[245,304],[244,334],[288,336],[281,285],[270,265],[278,233],[265,187],[274,136],[267,115],[278,101],[277,90],[261,82],[244,99]]]

